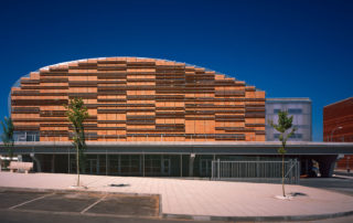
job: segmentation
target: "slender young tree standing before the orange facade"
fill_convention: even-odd
[[[79,158],[84,157],[84,151],[86,149],[85,129],[83,123],[88,117],[87,107],[84,105],[82,98],[69,99],[68,105],[64,105],[67,109],[65,115],[68,121],[73,126],[73,145],[76,148],[76,168],[77,168],[77,187],[79,187],[79,168],[83,169],[84,160]]]

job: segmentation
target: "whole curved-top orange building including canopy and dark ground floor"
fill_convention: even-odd
[[[86,173],[211,177],[213,170],[221,173],[221,160],[254,164],[279,159],[279,142],[265,137],[265,92],[185,63],[103,57],[42,67],[11,88],[14,153],[33,161],[35,171],[76,172],[64,108],[75,97],[84,99],[89,114]],[[330,176],[338,153],[352,147],[302,141],[287,146],[287,159],[299,160],[301,172],[310,172],[314,159],[322,176]],[[0,144],[0,153],[6,151]],[[246,167],[232,171],[260,178],[274,169]],[[223,170],[231,173],[228,166]]]

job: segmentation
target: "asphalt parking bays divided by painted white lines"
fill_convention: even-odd
[[[0,191],[0,210],[118,216],[159,216],[158,195]]]

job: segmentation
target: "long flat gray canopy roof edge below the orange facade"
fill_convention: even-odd
[[[197,155],[278,155],[278,141],[96,141],[87,142],[86,153],[197,153]],[[14,153],[74,152],[69,141],[15,142]],[[0,153],[7,153],[0,144]],[[287,142],[287,155],[353,155],[353,142]]]

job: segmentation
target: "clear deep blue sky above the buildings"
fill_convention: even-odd
[[[17,1],[0,7],[0,117],[11,85],[42,66],[142,56],[228,74],[267,97],[322,108],[353,96],[353,1]]]

